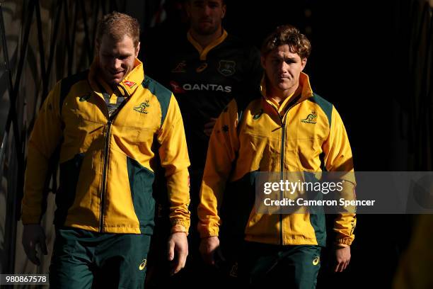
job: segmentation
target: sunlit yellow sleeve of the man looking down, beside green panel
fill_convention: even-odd
[[[166,171],[170,201],[171,232],[188,232],[190,228],[190,175],[187,143],[178,102],[171,94],[166,118],[158,132],[161,166]]]

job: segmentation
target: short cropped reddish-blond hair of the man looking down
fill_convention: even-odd
[[[103,35],[109,35],[116,42],[122,41],[125,35],[132,38],[134,47],[140,41],[140,24],[137,19],[119,12],[112,12],[105,15],[98,23],[96,30],[96,44],[100,45]]]

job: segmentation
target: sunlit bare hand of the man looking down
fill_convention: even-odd
[[[168,239],[168,261],[173,261],[171,275],[185,267],[188,256],[188,241],[185,232],[175,232]]]

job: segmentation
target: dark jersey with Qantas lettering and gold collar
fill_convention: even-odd
[[[158,64],[158,81],[173,91],[179,103],[191,168],[202,170],[209,142],[204,124],[217,118],[232,98],[257,94],[260,52],[225,30],[204,50],[188,33],[164,51],[163,57],[150,63]]]

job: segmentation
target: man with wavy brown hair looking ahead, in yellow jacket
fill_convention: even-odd
[[[297,28],[275,29],[262,45],[261,94],[250,101],[233,99],[219,115],[209,141],[198,208],[200,251],[214,264],[221,254],[221,229],[230,227],[226,232],[241,236],[232,251],[237,250],[239,275],[248,285],[283,282],[287,288],[315,288],[326,239],[321,213],[258,212],[257,173],[353,171],[340,115],[313,93],[303,72],[310,50]],[[353,180],[345,180],[343,190],[353,196]],[[351,213],[337,215],[334,221],[335,271],[345,270],[350,262],[355,225]],[[223,249],[236,242],[224,237]]]

